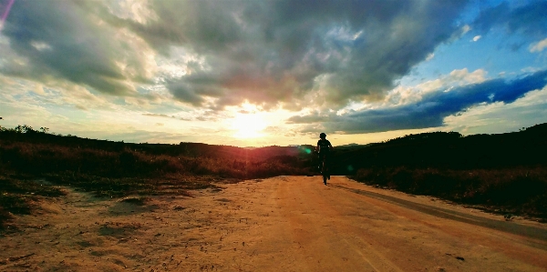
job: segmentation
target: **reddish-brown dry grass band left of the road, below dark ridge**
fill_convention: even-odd
[[[108,177],[150,177],[166,174],[260,178],[304,174],[297,166],[280,161],[230,160],[215,157],[148,155],[32,143],[0,146],[0,163],[6,170],[29,175],[75,173]]]

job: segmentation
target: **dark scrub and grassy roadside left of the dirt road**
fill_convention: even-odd
[[[124,145],[55,136],[28,126],[0,130],[0,228],[12,215],[29,214],[38,197],[62,196],[56,186],[99,197],[190,196],[190,190],[219,182],[308,173],[298,160],[287,163],[275,156],[247,158],[226,152],[214,156],[211,150],[207,156],[198,156],[199,150],[192,156],[167,155],[129,148],[137,144]],[[47,184],[36,183],[42,179]]]

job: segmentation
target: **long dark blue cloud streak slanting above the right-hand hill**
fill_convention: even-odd
[[[315,123],[305,126],[303,132],[340,131],[345,133],[371,133],[398,129],[417,129],[443,125],[446,116],[465,111],[481,103],[514,102],[526,93],[547,85],[547,70],[536,72],[512,81],[493,79],[480,84],[460,86],[449,91],[428,93],[418,103],[382,109],[354,112],[345,116],[318,115],[294,116],[288,123]]]

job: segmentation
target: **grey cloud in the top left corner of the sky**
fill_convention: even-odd
[[[133,41],[100,24],[77,2],[15,1],[2,34],[19,55],[0,66],[5,75],[61,78],[117,96],[134,93],[130,82],[148,80]],[[21,57],[25,62],[15,61]]]

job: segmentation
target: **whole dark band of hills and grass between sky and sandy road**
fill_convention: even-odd
[[[0,226],[27,214],[54,185],[101,197],[187,195],[218,182],[314,175],[314,146],[243,148],[201,143],[124,143],[0,127]],[[499,135],[408,135],[337,146],[332,175],[373,186],[547,218],[547,124]]]

